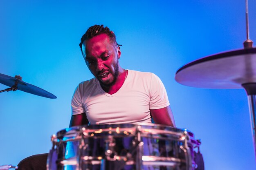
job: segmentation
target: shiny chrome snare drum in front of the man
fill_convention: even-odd
[[[75,126],[52,136],[47,170],[195,170],[200,143],[157,124]]]

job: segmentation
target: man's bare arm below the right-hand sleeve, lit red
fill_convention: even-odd
[[[173,113],[170,106],[159,109],[150,109],[150,113],[156,124],[163,124],[176,128]]]

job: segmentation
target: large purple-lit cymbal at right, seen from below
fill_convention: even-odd
[[[179,68],[175,80],[197,88],[236,89],[256,83],[256,48],[210,55]]]

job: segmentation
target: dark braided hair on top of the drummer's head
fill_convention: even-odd
[[[83,42],[85,40],[90,40],[91,38],[96,37],[97,35],[100,35],[103,33],[108,35],[108,37],[110,38],[110,42],[114,46],[121,46],[120,44],[117,44],[115,33],[113,31],[110,31],[110,29],[107,26],[104,27],[103,25],[94,25],[94,26],[91,26],[81,38],[81,42],[79,46],[80,46],[83,57],[85,57],[82,50]]]

